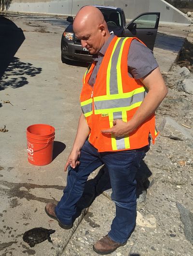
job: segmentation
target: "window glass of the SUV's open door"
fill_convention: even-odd
[[[141,15],[133,22],[137,24],[137,29],[154,29],[157,20],[156,14]]]

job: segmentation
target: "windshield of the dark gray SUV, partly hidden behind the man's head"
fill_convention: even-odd
[[[121,15],[119,12],[112,9],[111,10],[103,9],[103,8],[98,8],[98,9],[102,12],[108,26],[121,27]]]

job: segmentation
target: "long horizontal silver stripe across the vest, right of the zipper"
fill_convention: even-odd
[[[146,92],[142,91],[134,94],[129,98],[96,101],[94,103],[95,109],[98,110],[98,109],[108,109],[108,108],[116,108],[116,107],[127,107],[143,101],[143,99],[145,98],[145,95],[146,95]]]

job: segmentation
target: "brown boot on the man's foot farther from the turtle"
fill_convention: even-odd
[[[125,244],[126,242],[124,243],[115,242],[111,240],[108,235],[106,235],[105,237],[96,241],[96,243],[93,245],[93,250],[97,254],[105,255],[105,254],[110,254],[114,252],[118,247],[124,246]]]

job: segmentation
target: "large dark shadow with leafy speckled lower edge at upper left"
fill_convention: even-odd
[[[33,67],[31,63],[14,57],[24,40],[23,30],[0,15],[0,90],[22,87],[28,84],[26,76],[41,73],[41,68]]]

